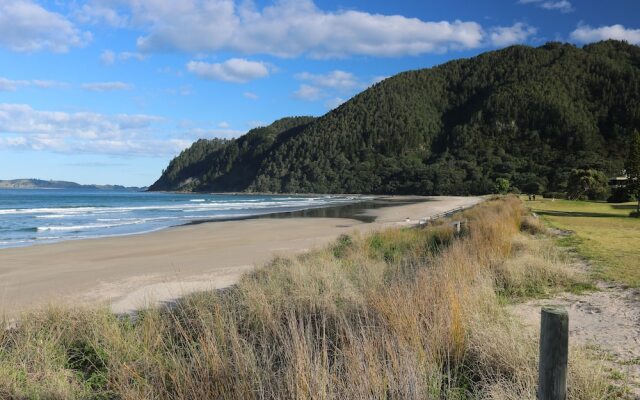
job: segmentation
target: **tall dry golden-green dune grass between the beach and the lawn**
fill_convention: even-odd
[[[0,398],[534,399],[537,337],[502,300],[583,278],[523,212],[343,236],[135,318],[25,314],[0,331]],[[607,379],[572,348],[570,399],[608,398]]]

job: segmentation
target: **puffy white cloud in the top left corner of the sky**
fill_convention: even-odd
[[[0,0],[0,46],[12,51],[66,52],[91,40],[64,16],[31,0]]]

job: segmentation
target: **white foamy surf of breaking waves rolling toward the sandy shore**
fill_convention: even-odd
[[[190,221],[221,220],[265,215],[274,212],[295,211],[335,204],[353,203],[363,197],[254,197],[254,198],[171,198],[151,202],[121,202],[111,199],[96,201],[83,199],[77,207],[40,202],[39,207],[0,209],[3,220],[9,221],[8,237],[0,240],[0,247],[28,245],[59,240],[74,240],[108,236],[133,235],[151,232]],[[48,199],[47,199],[48,200]],[[100,201],[100,202],[98,202]],[[126,201],[126,200],[125,200]],[[20,204],[20,205],[18,205]],[[28,204],[28,203],[27,203]],[[13,204],[12,204],[13,205]],[[110,206],[112,205],[112,206]],[[9,218],[10,217],[10,218]],[[33,219],[40,223],[32,224]],[[38,226],[41,225],[41,226]],[[28,226],[29,228],[24,228]],[[4,232],[3,231],[3,232]],[[24,231],[32,232],[26,238]],[[13,233],[11,233],[13,232]],[[12,237],[15,234],[15,238]]]

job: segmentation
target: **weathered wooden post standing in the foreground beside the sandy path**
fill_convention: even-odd
[[[562,307],[543,307],[540,320],[538,400],[566,400],[569,315]]]

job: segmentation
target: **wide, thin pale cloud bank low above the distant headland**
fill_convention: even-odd
[[[143,114],[40,111],[25,104],[0,104],[0,148],[116,155],[173,155],[190,138],[158,138],[162,118]]]

